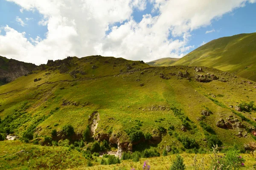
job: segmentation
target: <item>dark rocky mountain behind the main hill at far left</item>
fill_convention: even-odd
[[[18,77],[29,74],[37,66],[0,56],[0,85],[11,82]]]

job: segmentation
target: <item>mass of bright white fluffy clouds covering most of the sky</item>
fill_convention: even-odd
[[[0,35],[0,54],[36,64],[67,56],[100,54],[150,61],[183,57],[192,48],[190,32],[255,0],[8,0],[21,11],[38,10],[47,26],[46,38],[30,42],[25,33],[6,26]],[[132,14],[146,3],[157,16],[143,15],[138,23]],[[220,5],[221,4],[221,5]],[[120,26],[116,26],[120,23]],[[16,41],[16,42],[14,42]],[[20,43],[17,43],[20,42]]]

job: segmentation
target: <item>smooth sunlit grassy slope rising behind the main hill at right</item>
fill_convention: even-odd
[[[256,81],[256,33],[212,40],[173,65],[197,65],[229,71]]]

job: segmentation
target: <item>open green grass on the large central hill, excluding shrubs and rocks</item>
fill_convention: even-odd
[[[106,60],[108,63],[105,63]],[[218,128],[215,121],[234,115],[232,109],[228,107],[229,105],[256,102],[256,89],[253,88],[256,86],[255,82],[248,84],[246,79],[233,78],[229,74],[221,74],[222,71],[213,68],[203,68],[204,74],[215,74],[220,78],[227,79],[227,82],[213,80],[209,83],[200,83],[196,82],[194,78],[189,81],[169,75],[169,73],[177,74],[178,71],[184,73],[187,70],[191,77],[194,77],[194,68],[186,66],[154,68],[140,62],[113,57],[73,58],[72,61],[75,66],[70,68],[70,71],[81,69],[87,74],[77,74],[77,78],[73,79],[69,74],[70,71],[64,74],[59,74],[58,70],[37,71],[35,74],[20,77],[0,87],[0,117],[2,120],[7,115],[12,115],[24,101],[30,105],[26,109],[27,113],[20,116],[24,122],[15,130],[17,136],[21,136],[30,125],[35,124],[43,116],[49,115],[51,110],[59,107],[58,111],[54,111],[52,115],[37,125],[38,136],[50,135],[54,128],[60,131],[67,124],[73,125],[75,132],[81,134],[88,124],[88,117],[94,111],[98,111],[100,120],[96,134],[106,134],[108,130],[112,129],[112,136],[117,134],[120,135],[121,142],[129,141],[124,129],[133,127],[135,120],[140,120],[143,122],[141,127],[143,132],[152,133],[158,126],[168,128],[169,125],[174,125],[177,133],[195,138],[198,144],[204,146],[205,142],[202,141],[205,138],[204,130],[200,127],[197,118],[207,107],[213,114],[206,118],[206,122],[215,130],[224,145],[233,145],[236,142],[242,146],[244,143],[254,140],[250,134],[247,138],[237,137],[238,129]],[[133,69],[126,71],[126,64],[132,65],[133,62],[135,63],[132,66]],[[97,65],[98,68],[92,69],[92,65]],[[120,72],[120,70],[123,71]],[[46,75],[46,73],[51,74]],[[160,73],[170,79],[161,79]],[[33,81],[40,77],[42,78],[40,81]],[[140,82],[136,81],[137,79],[140,79]],[[141,87],[141,83],[144,83],[144,86]],[[209,99],[210,94],[215,94],[216,98],[214,99],[222,103],[223,106],[212,102]],[[218,97],[218,94],[223,96]],[[63,101],[80,104],[64,106],[62,105]],[[180,130],[182,122],[171,110],[151,110],[152,107],[158,106],[175,106],[182,109],[192,121],[190,124],[197,127],[182,132]],[[256,117],[255,112],[242,114],[250,120]],[[165,120],[155,122],[159,118],[165,118]],[[241,121],[241,118],[238,117],[238,119]],[[55,123],[58,123],[58,126],[55,127]],[[250,126],[247,122],[242,123]],[[166,145],[182,146],[174,136],[163,135],[162,142],[158,144],[157,149],[161,151]]]

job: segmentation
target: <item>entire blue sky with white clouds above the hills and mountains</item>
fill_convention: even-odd
[[[0,56],[149,62],[256,32],[256,0],[0,0]]]

